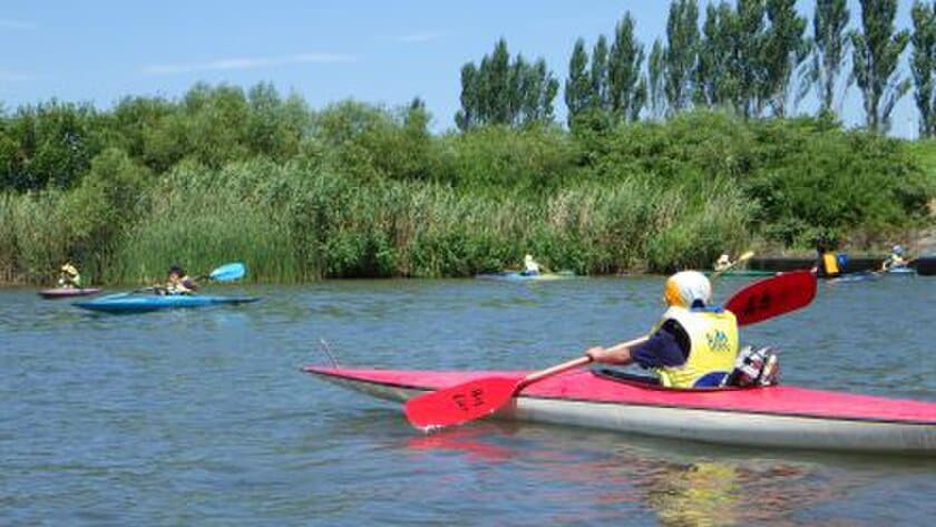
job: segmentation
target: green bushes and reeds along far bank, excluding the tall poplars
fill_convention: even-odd
[[[465,276],[527,252],[579,273],[663,272],[817,235],[866,250],[933,222],[936,146],[833,123],[696,111],[433,136],[418,105],[251,97],[201,87],[76,114],[84,168],[6,176],[0,281],[48,281],[65,260],[104,282],[234,260],[261,281]]]

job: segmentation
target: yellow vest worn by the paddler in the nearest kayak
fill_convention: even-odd
[[[660,383],[671,388],[693,388],[710,373],[731,373],[738,358],[738,320],[730,311],[699,311],[672,306],[654,328],[676,321],[686,335],[690,349],[680,367],[655,369]]]

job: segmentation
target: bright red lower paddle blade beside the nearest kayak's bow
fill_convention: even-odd
[[[494,413],[510,401],[520,379],[488,377],[437,390],[407,401],[403,410],[419,429],[451,427]]]

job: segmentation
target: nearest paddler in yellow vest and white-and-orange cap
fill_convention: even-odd
[[[599,363],[653,370],[664,387],[720,386],[738,358],[734,314],[709,305],[712,284],[698,271],[670,276],[663,297],[667,309],[646,341],[621,349],[592,348],[586,354]]]

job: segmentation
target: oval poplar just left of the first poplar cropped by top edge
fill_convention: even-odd
[[[608,100],[615,118],[637,120],[646,103],[646,79],[642,74],[643,45],[634,35],[630,12],[614,28],[614,42],[608,53]]]

